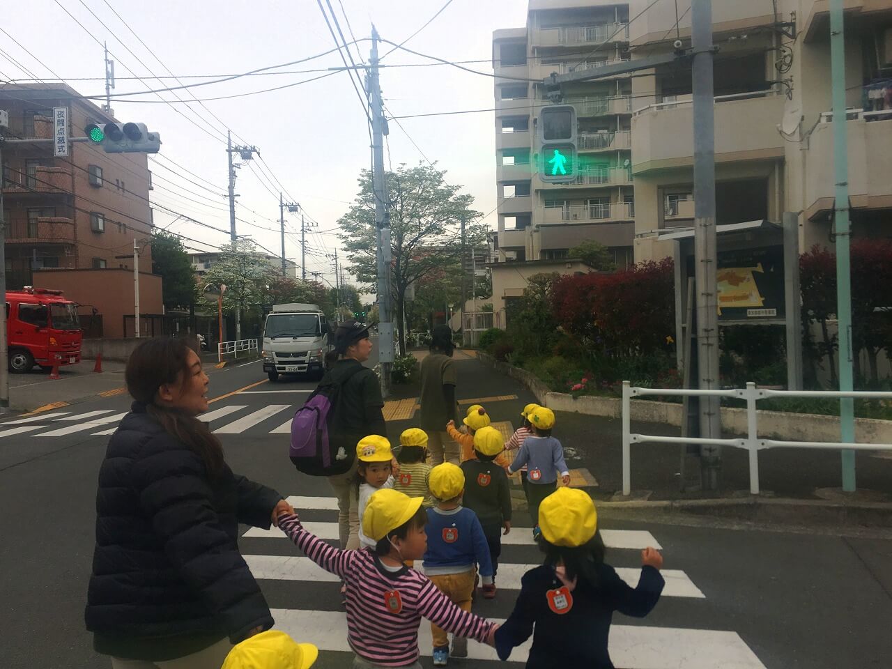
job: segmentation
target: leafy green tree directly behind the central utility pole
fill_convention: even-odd
[[[387,210],[390,215],[393,304],[392,320],[399,328],[400,352],[406,352],[403,313],[406,288],[442,268],[461,254],[459,232],[466,222],[467,244],[486,244],[488,227],[475,223],[480,213],[471,209],[474,198],[450,186],[444,172],[427,165],[401,165],[387,173]],[[359,281],[376,285],[375,194],[372,174],[359,175],[359,194],[350,211],[338,220],[341,239],[351,261],[351,273]]]

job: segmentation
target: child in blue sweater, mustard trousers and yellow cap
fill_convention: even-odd
[[[437,504],[427,513],[425,574],[458,607],[470,611],[476,565],[480,566],[483,587],[492,583],[486,536],[474,511],[461,506],[465,475],[459,467],[451,462],[437,465],[431,470],[430,485]],[[446,630],[432,622],[431,635],[434,637],[434,666],[445,666],[450,657]],[[453,637],[452,657],[467,657],[466,640]]]

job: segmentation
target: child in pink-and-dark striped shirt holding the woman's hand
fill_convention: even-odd
[[[418,625],[424,617],[459,637],[492,645],[498,625],[462,611],[420,572],[403,564],[421,559],[427,547],[427,513],[420,497],[383,489],[368,500],[364,533],[374,549],[341,550],[301,525],[297,516],[278,517],[279,528],[308,558],[347,584],[347,640],[354,667],[408,667],[418,663]]]

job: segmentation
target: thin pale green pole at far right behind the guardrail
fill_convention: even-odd
[[[830,78],[833,94],[833,174],[836,204],[833,234],[837,252],[837,318],[839,333],[839,390],[852,392],[852,273],[849,247],[848,146],[846,136],[846,43],[843,2],[830,0]],[[851,397],[839,400],[840,443],[855,443],[855,407]],[[855,492],[855,451],[842,451],[842,489]]]

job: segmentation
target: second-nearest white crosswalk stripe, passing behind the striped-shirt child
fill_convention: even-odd
[[[279,555],[245,555],[244,561],[248,563],[248,568],[254,574],[254,578],[266,579],[268,581],[323,581],[335,582],[341,578],[335,574],[329,574],[325,569],[318,566],[310,558],[301,556],[279,556]],[[515,563],[499,563],[499,590],[520,590],[520,580],[531,569],[535,569],[538,564],[515,564]],[[416,567],[418,571],[424,573],[424,563],[419,563]],[[641,575],[640,568],[617,567],[616,574],[634,588],[638,585],[638,579]],[[690,599],[706,599],[706,596],[700,589],[691,582],[688,574],[681,569],[664,569],[660,571],[660,575],[665,579],[665,588],[663,589],[663,597],[686,597]]]

